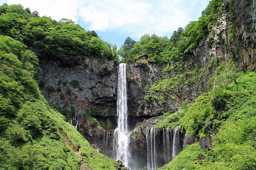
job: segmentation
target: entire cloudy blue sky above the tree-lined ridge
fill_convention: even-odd
[[[179,27],[196,21],[209,0],[0,0],[4,3],[21,4],[56,21],[72,19],[120,47],[128,36],[135,41],[153,33],[170,38]]]

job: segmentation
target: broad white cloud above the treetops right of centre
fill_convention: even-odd
[[[145,33],[164,36],[179,27],[184,27],[189,21],[197,20],[208,0],[84,0],[79,2],[77,17],[84,20],[84,25],[89,25],[88,29],[96,32],[116,30],[139,38]],[[197,17],[193,18],[196,12]]]

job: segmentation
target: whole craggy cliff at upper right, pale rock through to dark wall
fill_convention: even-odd
[[[200,42],[194,53],[202,64],[199,72],[207,71],[208,77],[205,77],[205,80],[209,79],[209,75],[214,71],[214,67],[209,68],[208,64],[216,56],[219,58],[219,64],[228,59],[234,60],[239,71],[256,68],[255,2],[255,0],[223,1],[218,23],[212,25],[209,34]]]

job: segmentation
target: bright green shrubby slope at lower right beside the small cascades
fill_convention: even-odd
[[[191,152],[188,147],[166,169],[256,168],[256,72],[238,75],[228,69],[232,66],[232,62],[228,61],[216,69],[218,74],[212,75],[215,81],[211,84],[215,88],[208,95],[204,93],[197,97],[194,104],[162,116],[166,118],[157,124],[160,128],[180,125],[187,134],[204,138],[209,136],[210,130],[205,123],[211,120],[216,131],[211,150]],[[234,76],[237,77],[233,80]],[[233,82],[227,83],[221,77],[228,77]],[[196,153],[193,158],[191,153]],[[201,153],[205,158],[200,160],[200,165],[196,157]]]

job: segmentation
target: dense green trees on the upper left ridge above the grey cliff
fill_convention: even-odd
[[[103,42],[94,31],[85,31],[72,20],[59,22],[38,17],[21,5],[0,6],[0,34],[31,47],[42,59],[72,66],[85,57],[118,60],[116,45]]]

